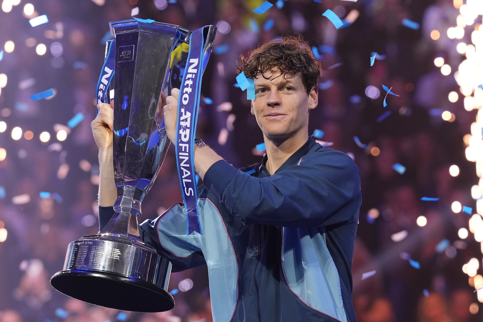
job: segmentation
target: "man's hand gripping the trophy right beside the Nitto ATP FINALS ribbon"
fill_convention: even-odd
[[[155,121],[161,122],[164,119],[166,135],[171,142],[176,140],[176,118],[178,113],[178,98],[180,90],[178,88],[171,89],[171,95],[166,97],[161,92],[161,99],[157,105]]]

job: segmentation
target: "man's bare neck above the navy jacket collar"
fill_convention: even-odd
[[[300,136],[299,138],[292,137],[287,140],[271,140],[267,137],[265,139],[265,148],[267,151],[267,163],[265,167],[269,171],[270,175],[274,174],[275,171],[280,168],[285,161],[294,154],[302,145],[307,142],[309,136]]]

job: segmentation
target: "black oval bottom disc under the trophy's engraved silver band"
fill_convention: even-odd
[[[60,271],[50,282],[60,293],[101,307],[134,312],[162,312],[174,307],[173,297],[162,288],[112,273]]]

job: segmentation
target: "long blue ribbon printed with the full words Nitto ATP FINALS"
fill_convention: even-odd
[[[198,217],[198,188],[195,180],[194,140],[201,92],[204,37],[203,28],[191,33],[185,74],[178,99],[176,165],[186,209],[186,236],[201,234]]]

